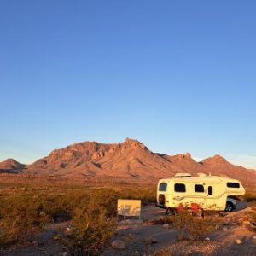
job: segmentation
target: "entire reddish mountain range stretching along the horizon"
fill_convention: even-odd
[[[75,143],[67,148],[55,149],[49,156],[26,168],[15,163],[19,167],[16,170],[22,169],[23,173],[59,177],[104,177],[155,182],[160,177],[172,177],[176,172],[189,172],[192,175],[203,172],[240,179],[250,188],[256,183],[254,170],[234,166],[220,155],[197,162],[188,153],[153,153],[143,143],[130,138],[124,143],[114,144]]]

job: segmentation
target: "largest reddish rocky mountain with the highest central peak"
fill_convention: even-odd
[[[168,160],[131,139],[117,144],[76,143],[52,151],[27,168],[27,172],[38,170],[65,176],[136,178],[156,178],[175,171]]]

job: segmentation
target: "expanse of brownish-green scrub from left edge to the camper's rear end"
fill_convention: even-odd
[[[26,180],[26,182],[30,182]],[[112,220],[117,214],[119,198],[141,199],[144,203],[155,201],[155,189],[88,189],[87,187],[54,183],[35,183],[23,189],[0,192],[0,246],[26,241],[30,234],[40,231],[49,222],[72,220],[74,233],[81,240],[81,250],[90,251],[88,241],[98,234],[91,247],[98,250],[113,229]],[[79,218],[81,217],[81,223]],[[100,222],[97,223],[98,219]],[[88,224],[88,229],[83,225]],[[102,233],[101,233],[102,232]],[[102,237],[102,238],[101,238]],[[69,244],[77,247],[75,236]]]

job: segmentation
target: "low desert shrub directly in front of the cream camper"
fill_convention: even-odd
[[[215,230],[218,218],[214,216],[195,217],[187,209],[178,212],[173,225],[178,230],[178,239],[201,240]]]

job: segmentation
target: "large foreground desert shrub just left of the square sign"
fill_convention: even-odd
[[[96,255],[115,230],[114,218],[101,203],[90,197],[90,204],[79,207],[73,216],[72,232],[63,238],[65,246],[76,255]]]

